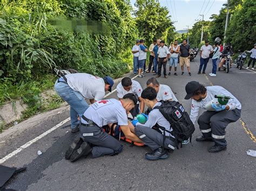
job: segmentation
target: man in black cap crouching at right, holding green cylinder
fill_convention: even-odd
[[[225,140],[226,126],[232,122],[238,121],[241,116],[241,103],[229,91],[221,86],[207,86],[196,81],[186,84],[185,99],[192,99],[190,119],[193,124],[196,123],[199,109],[206,109],[199,118],[199,129],[203,136],[198,137],[197,142],[214,142],[209,152],[215,153],[226,150],[227,142]],[[230,100],[225,105],[218,104],[215,95],[229,96]]]

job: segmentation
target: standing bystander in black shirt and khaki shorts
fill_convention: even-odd
[[[179,64],[181,66],[181,75],[184,74],[184,65],[187,67],[188,74],[191,76],[190,72],[190,45],[187,44],[187,40],[183,40],[183,44],[180,46],[180,58]]]

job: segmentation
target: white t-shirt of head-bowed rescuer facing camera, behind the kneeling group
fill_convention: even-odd
[[[129,91],[126,91],[122,86],[122,82],[117,85],[117,97],[123,98],[125,94],[132,93],[137,94],[139,97],[142,96],[142,86],[140,86],[139,82],[132,80],[132,87]]]

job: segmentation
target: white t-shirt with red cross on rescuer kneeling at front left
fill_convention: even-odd
[[[84,112],[84,116],[100,127],[109,123],[128,125],[126,111],[122,103],[116,99],[101,100],[93,103]],[[81,119],[81,122],[88,124],[83,118]]]

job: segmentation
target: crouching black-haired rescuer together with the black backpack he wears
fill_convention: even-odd
[[[142,98],[147,107],[153,110],[145,124],[133,121],[135,134],[153,151],[145,154],[146,159],[166,159],[167,151],[172,152],[178,143],[191,137],[194,125],[179,102],[157,102],[157,92],[154,88],[144,89]]]

